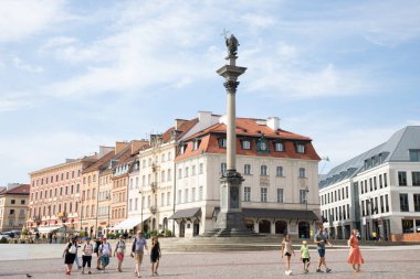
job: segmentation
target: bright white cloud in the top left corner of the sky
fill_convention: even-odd
[[[63,20],[63,0],[0,1],[0,42],[15,41],[41,32]]]

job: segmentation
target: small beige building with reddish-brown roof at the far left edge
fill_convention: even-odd
[[[9,184],[0,190],[0,232],[21,230],[28,211],[29,184]]]

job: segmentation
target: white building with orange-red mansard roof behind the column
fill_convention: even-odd
[[[202,117],[179,140],[176,158],[175,233],[213,229],[225,171],[225,117]],[[198,127],[199,124],[195,127]],[[309,237],[319,216],[318,161],[312,140],[279,128],[279,118],[237,118],[237,168],[244,178],[242,207],[249,229]]]

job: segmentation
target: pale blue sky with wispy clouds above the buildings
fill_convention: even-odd
[[[1,0],[0,185],[225,114],[223,30],[239,40],[237,116],[313,139],[319,172],[420,125],[420,1]]]

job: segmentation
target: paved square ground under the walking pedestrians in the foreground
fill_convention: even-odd
[[[63,245],[0,245],[0,277],[24,279],[30,273],[33,279],[65,278],[61,258],[63,248]],[[162,249],[159,277],[165,279],[286,278],[279,251],[165,254],[165,247]],[[291,278],[420,278],[420,246],[364,247],[366,265],[360,273],[354,273],[346,264],[347,253],[345,247],[327,250],[327,264],[333,269],[328,275],[315,273],[318,259],[316,250],[311,250],[312,267],[308,275],[302,272],[296,254],[292,258],[294,273]],[[143,278],[151,278],[149,268],[149,261],[145,260]],[[112,258],[106,273],[95,270],[92,276],[81,275],[73,269],[71,278],[135,278],[133,271],[134,261],[130,257],[126,257],[122,273],[116,271],[116,258]]]

